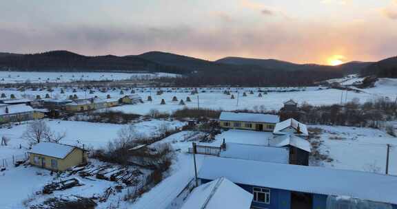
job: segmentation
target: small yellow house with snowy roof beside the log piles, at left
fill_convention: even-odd
[[[87,162],[87,153],[77,146],[40,142],[28,152],[30,164],[54,171],[63,171]]]

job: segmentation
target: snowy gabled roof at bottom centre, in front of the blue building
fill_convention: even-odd
[[[253,195],[220,177],[194,188],[181,209],[249,209]]]

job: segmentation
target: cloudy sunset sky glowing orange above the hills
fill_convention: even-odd
[[[296,63],[397,55],[397,0],[1,0],[0,52]]]

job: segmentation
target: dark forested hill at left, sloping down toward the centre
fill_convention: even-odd
[[[18,71],[127,71],[172,72],[183,71],[147,61],[137,56],[83,56],[68,51],[51,51],[39,54],[0,54],[0,68]]]

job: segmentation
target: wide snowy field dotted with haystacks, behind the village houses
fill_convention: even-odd
[[[191,89],[171,89],[163,88],[165,91],[161,95],[156,95],[156,88],[132,88],[135,94],[139,94],[143,98],[143,104],[136,105],[123,105],[121,107],[112,107],[111,110],[123,111],[125,113],[137,113],[145,115],[152,109],[157,109],[161,112],[172,112],[177,109],[183,109],[184,107],[201,107],[209,109],[223,109],[227,111],[233,111],[236,109],[265,109],[265,110],[276,110],[283,107],[283,102],[289,99],[293,99],[299,104],[307,102],[313,105],[324,105],[324,104],[338,104],[340,98],[343,101],[352,101],[354,98],[358,98],[360,102],[366,102],[368,100],[374,100],[376,98],[389,98],[395,100],[397,96],[397,79],[381,78],[376,87],[371,89],[363,89],[364,93],[356,93],[352,91],[340,91],[339,89],[321,89],[320,87],[289,87],[289,88],[260,88],[262,91],[269,91],[267,94],[263,94],[263,97],[258,97],[258,88],[230,88],[234,95],[234,99],[231,96],[223,94],[223,91],[227,88],[218,89],[198,89],[199,94],[190,95]],[[70,95],[76,94],[79,98],[92,98],[99,96],[99,98],[106,98],[108,94],[112,98],[121,98],[126,94],[130,94],[131,90],[124,89],[121,94],[120,89],[110,89],[108,92],[101,92],[99,89],[94,89],[93,94],[89,94],[89,91],[83,91],[82,89],[76,89],[77,92],[73,92],[73,89],[63,89],[64,94],[61,94],[61,88],[56,88],[52,92],[39,91],[26,89],[26,91],[18,91],[17,89],[1,89],[0,92],[6,94],[7,98],[10,98],[10,94],[14,94],[17,98],[30,98],[34,99],[37,95],[41,98],[45,98],[45,94],[49,94],[51,98],[68,98]],[[249,94],[250,91],[254,91],[254,94]],[[171,92],[167,92],[171,91]],[[288,92],[283,92],[288,91]],[[247,96],[243,96],[243,94]],[[147,101],[147,97],[152,97],[152,102]],[[179,105],[178,102],[172,102],[172,98],[176,98],[180,101],[183,100],[185,105]],[[192,102],[187,102],[187,96],[190,97]],[[165,104],[160,104],[161,100],[165,100]]]

